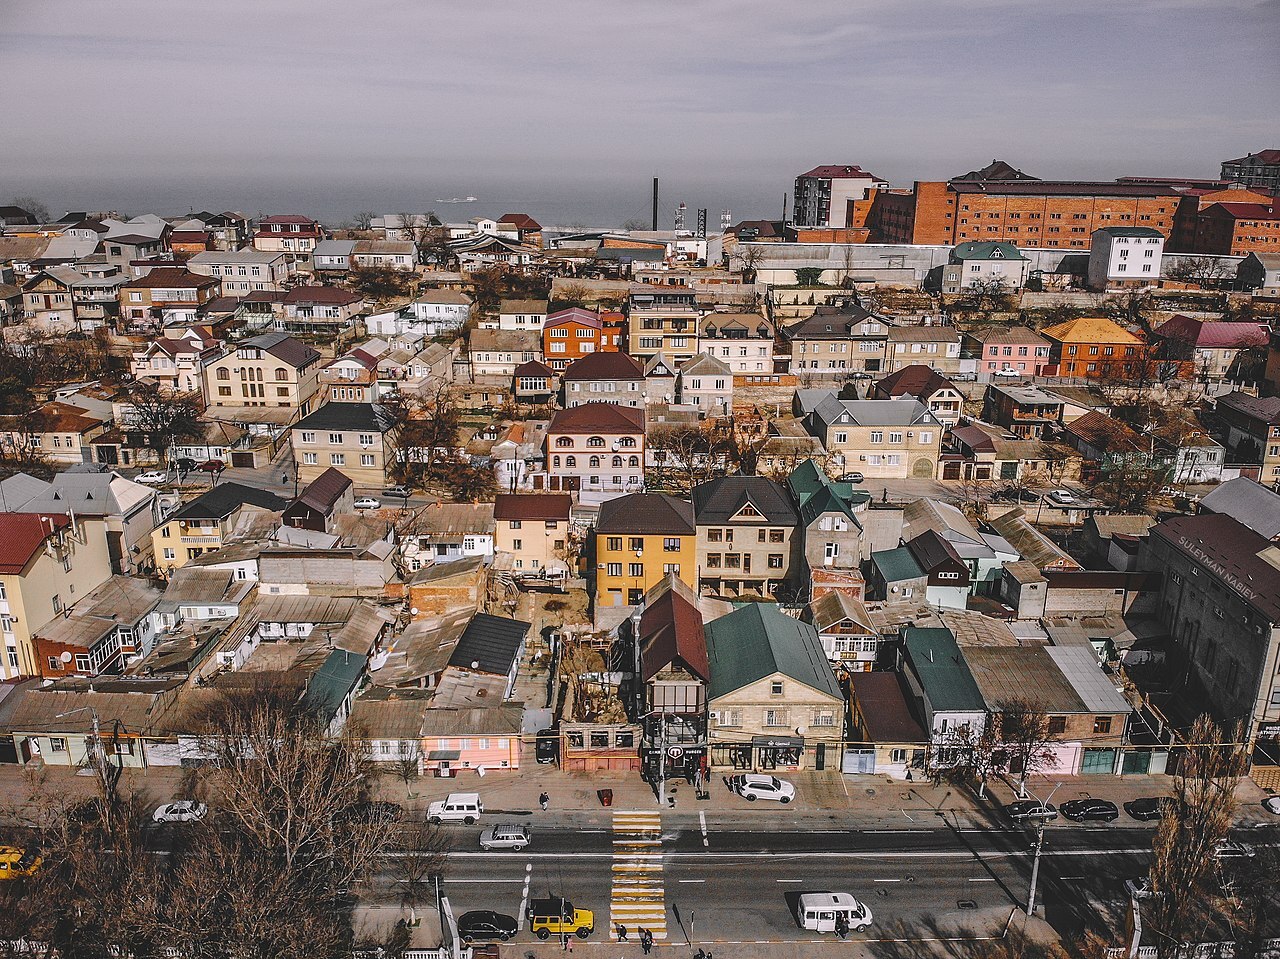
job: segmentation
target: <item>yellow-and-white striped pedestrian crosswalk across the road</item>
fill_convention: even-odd
[[[640,941],[640,930],[667,939],[667,900],[662,883],[662,813],[613,813],[613,895],[609,939],[618,926]]]

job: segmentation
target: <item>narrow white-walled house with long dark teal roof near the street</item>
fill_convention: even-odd
[[[956,731],[977,731],[987,722],[987,703],[951,630],[913,626],[902,639],[902,675],[933,741],[931,762],[946,766]]]

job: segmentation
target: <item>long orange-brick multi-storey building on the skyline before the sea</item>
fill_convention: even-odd
[[[1180,198],[1161,183],[993,179],[984,173],[918,181],[910,192],[877,192],[867,218],[872,242],[1007,241],[1088,250],[1089,236],[1105,227],[1151,227],[1167,237]]]

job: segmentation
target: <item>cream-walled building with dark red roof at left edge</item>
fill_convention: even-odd
[[[38,676],[32,634],[110,577],[101,520],[0,513],[0,676]]]

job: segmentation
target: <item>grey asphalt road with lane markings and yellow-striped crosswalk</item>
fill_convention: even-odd
[[[1034,844],[1034,830],[1018,826],[767,831],[709,825],[704,832],[699,823],[663,823],[644,840],[648,846],[637,846],[617,827],[535,822],[527,849],[485,853],[479,826],[451,827],[451,834],[443,891],[457,915],[494,909],[522,918],[530,896],[564,896],[595,913],[593,940],[609,937],[622,921],[632,937],[646,926],[659,939],[695,947],[815,939],[799,928],[794,909],[803,892],[823,890],[850,892],[870,907],[876,922],[851,939],[998,933],[1025,905]],[[1123,821],[1050,826],[1039,877],[1044,917],[1064,936],[1114,924],[1124,910],[1124,880],[1147,869],[1151,835],[1149,827]],[[1276,835],[1251,831],[1248,839],[1275,841]],[[389,864],[372,892],[393,896],[397,882]],[[524,923],[518,939],[530,939]]]

